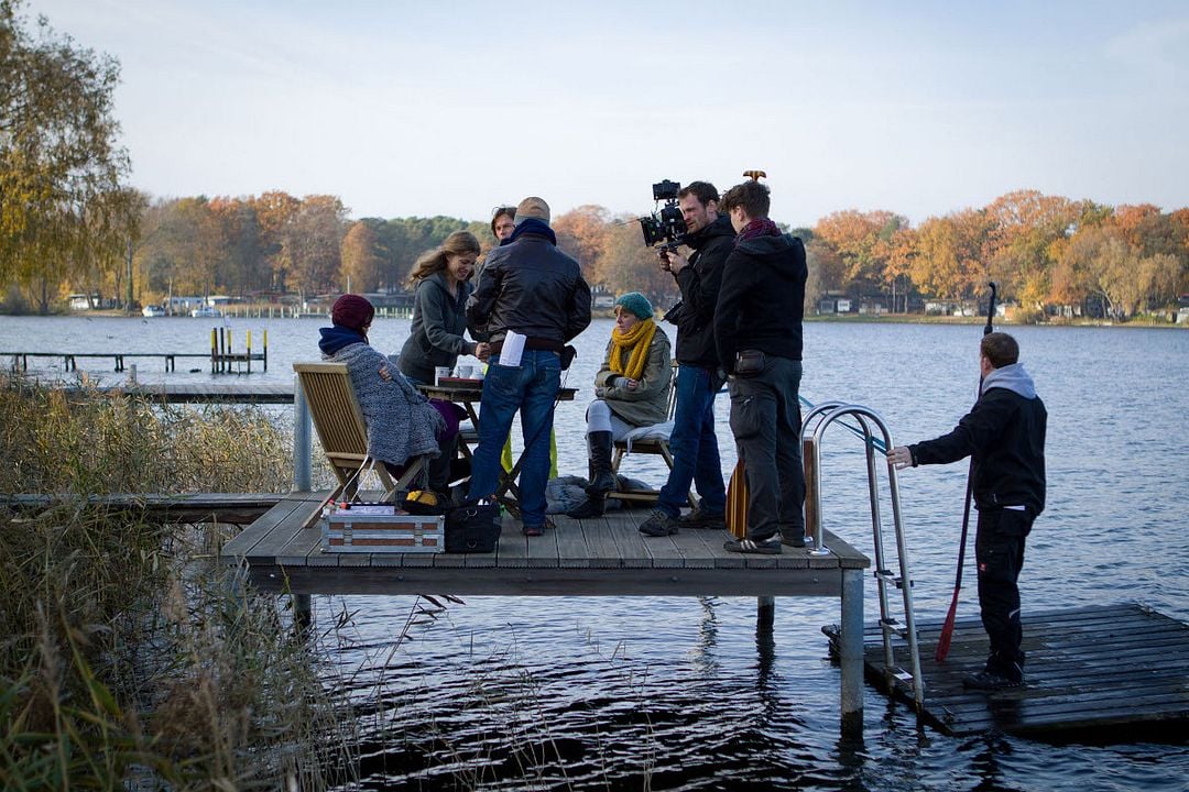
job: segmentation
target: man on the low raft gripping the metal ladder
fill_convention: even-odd
[[[1000,690],[1024,684],[1017,581],[1024,565],[1024,540],[1044,511],[1049,416],[1019,362],[1015,338],[1006,332],[988,334],[979,351],[982,387],[969,414],[949,435],[892,449],[888,461],[902,469],[971,457],[970,483],[979,509],[974,544],[979,606],[990,657],[982,671],[963,682],[976,690]]]

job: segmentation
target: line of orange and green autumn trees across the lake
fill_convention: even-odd
[[[18,268],[15,285],[33,300],[74,291],[140,304],[168,293],[304,302],[347,290],[402,291],[416,258],[458,229],[485,249],[495,243],[486,220],[351,220],[335,196],[150,202],[137,195],[132,203],[139,214],[125,237]],[[660,304],[675,298],[635,216],[585,205],[553,226],[596,287],[643,291]],[[1121,319],[1171,308],[1189,291],[1189,209],[1106,207],[1027,190],[917,227],[892,211],[847,210],[793,230],[806,242],[811,309],[831,294],[908,312],[927,299],[974,299],[990,279],[1004,299],[1037,318],[1074,305]]]

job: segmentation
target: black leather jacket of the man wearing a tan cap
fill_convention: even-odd
[[[577,261],[543,234],[527,233],[487,254],[466,322],[478,341],[515,330],[564,344],[591,323],[591,289]]]

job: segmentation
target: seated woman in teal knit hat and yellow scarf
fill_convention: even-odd
[[[640,292],[615,300],[615,329],[603,366],[594,376],[594,401],[586,408],[590,486],[586,500],[567,512],[587,518],[603,513],[615,489],[611,451],[615,441],[638,426],[668,418],[673,387],[669,340],[653,319],[653,305]]]

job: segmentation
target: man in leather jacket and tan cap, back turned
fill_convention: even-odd
[[[521,201],[511,236],[487,254],[466,304],[471,336],[491,344],[468,498],[490,496],[499,486],[499,452],[520,410],[524,430],[521,521],[524,536],[537,537],[545,528],[549,435],[561,354],[591,322],[591,290],[578,262],[558,249],[545,201]],[[501,353],[510,331],[524,336],[524,349],[518,361],[504,365]]]

